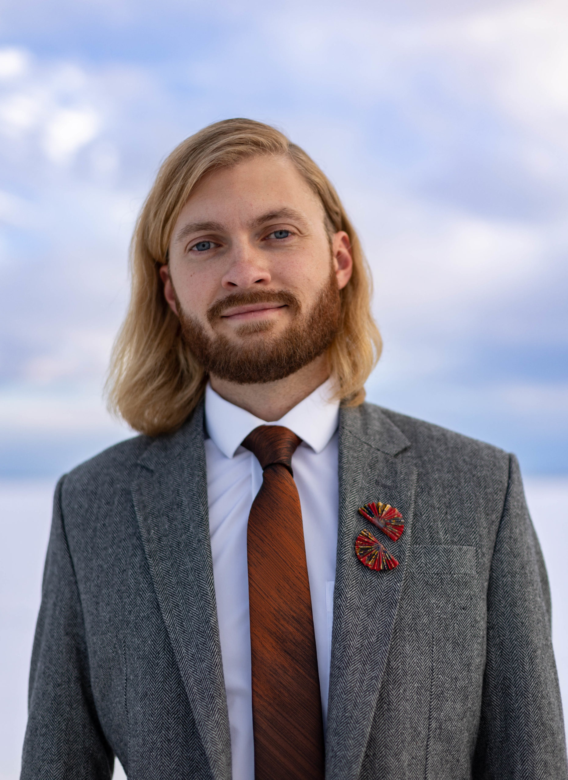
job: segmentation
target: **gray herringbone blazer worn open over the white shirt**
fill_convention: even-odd
[[[403,513],[361,566],[357,507]],[[517,462],[364,404],[341,411],[328,780],[566,780],[545,566]],[[231,777],[203,410],[60,482],[24,780]]]

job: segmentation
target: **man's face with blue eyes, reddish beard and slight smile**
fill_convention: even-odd
[[[262,156],[197,186],[161,276],[208,371],[247,382],[282,378],[325,350],[351,268],[346,233],[330,247],[321,202],[293,163]]]

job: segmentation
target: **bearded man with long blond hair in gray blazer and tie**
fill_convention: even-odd
[[[275,129],[165,161],[111,401],[63,477],[23,778],[566,778],[517,461],[363,403],[357,236]]]

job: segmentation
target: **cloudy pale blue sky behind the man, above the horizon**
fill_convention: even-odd
[[[563,3],[24,0],[0,5],[0,474],[130,435],[101,388],[133,221],[236,115],[304,146],[360,232],[369,398],[568,473]]]

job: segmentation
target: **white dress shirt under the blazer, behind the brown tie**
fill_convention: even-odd
[[[300,495],[307,574],[310,580],[324,729],[327,721],[332,652],[333,586],[339,507],[339,402],[329,402],[327,381],[271,425],[283,425],[302,439],[292,456]],[[247,523],[262,484],[256,457],[240,442],[265,420],[205,391],[205,440],[209,528],[229,707],[233,780],[254,780],[250,672]]]

